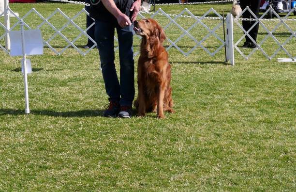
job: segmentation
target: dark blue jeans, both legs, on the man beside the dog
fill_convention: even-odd
[[[114,32],[118,34],[120,83],[115,69]],[[100,54],[109,101],[132,106],[134,98],[133,26],[121,28],[112,22],[95,20],[95,38]]]

